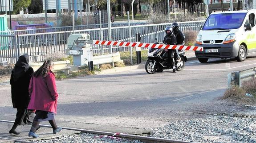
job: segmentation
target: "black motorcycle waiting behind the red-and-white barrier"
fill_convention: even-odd
[[[155,43],[158,44],[158,43]],[[185,56],[185,50],[179,51],[179,56],[181,58],[180,62],[175,61],[176,70],[183,70],[185,62],[187,62],[187,57]],[[145,70],[149,74],[155,73],[157,70],[169,70],[173,69],[171,63],[168,59],[168,52],[164,49],[149,48],[147,53],[148,60],[145,64]]]

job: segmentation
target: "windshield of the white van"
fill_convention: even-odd
[[[246,13],[220,13],[210,15],[202,30],[225,30],[239,28],[245,18]]]

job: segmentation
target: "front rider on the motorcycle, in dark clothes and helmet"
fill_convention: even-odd
[[[165,33],[166,35],[164,36],[163,43],[164,44],[169,44],[169,45],[176,45],[177,39],[176,36],[173,34],[173,30],[170,26],[167,26],[165,28]],[[173,72],[176,73],[176,68],[175,68],[175,62],[174,62],[174,53],[175,50],[171,49],[164,49],[166,52],[168,51],[168,58],[171,62],[171,65],[173,67]]]

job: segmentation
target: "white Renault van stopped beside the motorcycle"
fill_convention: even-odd
[[[196,38],[195,46],[203,46],[195,51],[199,62],[232,57],[241,62],[256,53],[255,15],[256,10],[211,13]]]

